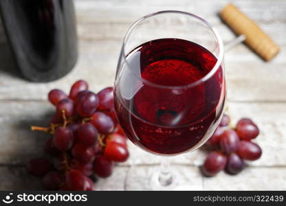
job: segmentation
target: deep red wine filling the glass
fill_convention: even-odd
[[[203,80],[217,58],[197,43],[162,38],[136,47],[126,61],[115,87],[115,108],[129,139],[162,155],[201,146],[223,111],[222,67]]]

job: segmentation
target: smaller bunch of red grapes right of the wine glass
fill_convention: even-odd
[[[202,166],[203,174],[214,176],[221,170],[238,174],[243,170],[244,160],[255,161],[262,154],[261,147],[251,140],[259,135],[259,128],[249,118],[240,119],[230,128],[230,117],[223,115],[214,135],[206,142],[214,148]]]

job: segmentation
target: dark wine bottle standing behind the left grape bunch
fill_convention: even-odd
[[[71,0],[1,0],[0,14],[25,78],[49,82],[72,70],[78,57]]]

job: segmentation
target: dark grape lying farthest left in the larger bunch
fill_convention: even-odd
[[[44,176],[52,170],[52,163],[45,158],[30,159],[28,161],[27,170],[34,176]]]

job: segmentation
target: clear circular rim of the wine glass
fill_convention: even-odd
[[[210,72],[208,72],[206,74],[206,76],[203,76],[203,78],[200,78],[199,80],[196,80],[195,82],[192,82],[190,84],[186,84],[186,85],[181,85],[181,86],[166,86],[166,85],[162,85],[162,84],[157,84],[154,82],[150,82],[148,80],[145,80],[144,78],[141,78],[140,76],[138,76],[135,72],[132,72],[137,78],[139,78],[142,82],[145,82],[146,84],[150,84],[153,87],[161,87],[164,89],[186,89],[186,88],[190,88],[190,87],[195,87],[198,84],[200,84],[201,82],[205,82],[206,80],[208,80],[211,76],[214,75],[214,73],[217,71],[217,69],[219,69],[221,62],[223,60],[223,41],[221,40],[221,36],[219,35],[219,32],[217,32],[217,30],[210,24],[208,23],[208,21],[202,19],[201,17],[195,15],[195,14],[191,14],[188,12],[182,12],[182,11],[178,11],[178,10],[164,10],[164,11],[159,11],[159,12],[154,12],[151,14],[148,14],[146,16],[143,16],[142,18],[138,19],[137,21],[135,21],[127,30],[124,38],[123,38],[123,44],[122,44],[122,53],[123,53],[123,58],[124,58],[124,62],[126,65],[129,65],[127,60],[126,60],[126,56],[127,54],[125,54],[124,48],[126,45],[126,42],[129,39],[129,36],[132,32],[132,30],[134,29],[134,27],[136,27],[139,23],[141,23],[142,21],[151,18],[152,16],[156,16],[159,14],[167,14],[167,13],[177,13],[177,14],[185,14],[187,16],[192,16],[195,19],[198,19],[199,21],[201,21],[202,23],[204,23],[207,27],[210,28],[210,30],[212,31],[212,33],[214,34],[215,38],[217,38],[217,42],[219,43],[219,56],[217,58],[217,62],[214,65],[214,67],[212,67],[212,70],[210,70]],[[132,51],[132,50],[131,50]],[[223,67],[222,67],[223,69]]]

